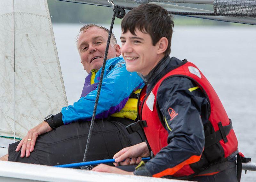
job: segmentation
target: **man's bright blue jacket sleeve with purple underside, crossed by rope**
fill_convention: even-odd
[[[113,113],[119,112],[124,107],[132,91],[135,91],[142,84],[143,81],[136,72],[131,73],[126,70],[124,61],[110,65],[109,68],[106,65],[96,118],[106,118]],[[91,120],[97,91],[98,86],[73,105],[63,107],[61,110],[63,123]]]

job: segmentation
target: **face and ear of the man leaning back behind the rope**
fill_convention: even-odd
[[[81,63],[87,73],[92,69],[99,70],[102,67],[105,50],[108,41],[108,33],[98,27],[89,27],[82,33],[77,41]],[[109,45],[107,59],[120,56],[120,46]]]

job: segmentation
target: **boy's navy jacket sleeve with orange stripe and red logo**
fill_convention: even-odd
[[[145,169],[154,177],[172,175],[184,165],[200,160],[204,148],[204,127],[200,102],[188,89],[195,87],[185,77],[171,77],[157,92],[157,103],[168,131],[167,143]],[[200,89],[199,89],[200,90]],[[134,174],[145,171],[135,171]]]

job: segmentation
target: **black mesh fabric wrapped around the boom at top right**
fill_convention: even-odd
[[[216,15],[256,17],[256,0],[214,0]]]

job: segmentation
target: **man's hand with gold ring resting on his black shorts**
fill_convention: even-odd
[[[43,122],[38,124],[35,128],[32,128],[28,131],[28,134],[26,137],[24,137],[19,145],[16,148],[16,152],[20,151],[20,157],[24,157],[26,154],[26,157],[30,155],[30,152],[34,150],[34,146],[36,144],[36,138],[46,132],[52,131],[52,128],[49,126],[47,122]]]

